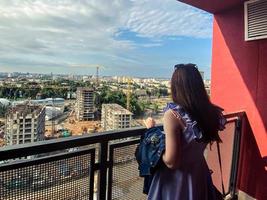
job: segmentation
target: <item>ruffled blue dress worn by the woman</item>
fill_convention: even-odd
[[[183,118],[186,128],[181,136],[181,165],[172,170],[159,169],[152,180],[148,200],[210,200],[214,199],[213,184],[204,150],[207,143],[199,142],[202,133],[197,122],[178,105],[169,103],[165,111],[172,109]]]

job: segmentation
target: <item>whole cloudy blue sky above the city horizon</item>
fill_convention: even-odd
[[[212,15],[176,0],[1,0],[0,71],[210,76]]]

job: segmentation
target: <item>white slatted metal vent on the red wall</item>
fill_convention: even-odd
[[[267,38],[267,0],[251,0],[244,4],[245,40]]]

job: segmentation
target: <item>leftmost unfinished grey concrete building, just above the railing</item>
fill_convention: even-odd
[[[45,133],[45,107],[17,105],[6,117],[5,142],[7,145],[40,141]]]

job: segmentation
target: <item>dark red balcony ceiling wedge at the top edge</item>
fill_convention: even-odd
[[[223,10],[242,4],[245,0],[178,0],[210,13],[218,13]]]

